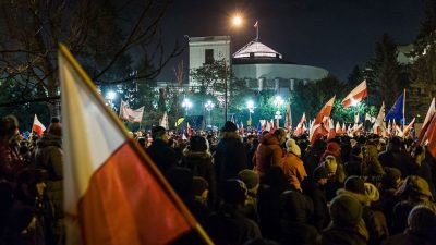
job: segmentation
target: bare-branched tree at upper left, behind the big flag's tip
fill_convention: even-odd
[[[121,2],[121,3],[120,3]],[[161,21],[171,0],[3,0],[0,3],[0,79],[14,83],[13,105],[59,98],[57,51],[65,44],[96,84],[129,83],[131,53],[154,63],[137,81],[156,77],[180,54],[165,52]],[[137,54],[140,53],[140,54]],[[149,66],[148,66],[149,68]],[[0,103],[1,106],[1,103]]]

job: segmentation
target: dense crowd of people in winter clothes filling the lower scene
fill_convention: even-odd
[[[0,244],[63,244],[61,123],[0,125]],[[436,244],[436,159],[413,139],[277,128],[135,132],[215,244]],[[190,242],[185,244],[190,244]],[[192,242],[191,244],[195,244]]]

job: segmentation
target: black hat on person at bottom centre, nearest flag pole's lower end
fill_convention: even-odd
[[[246,193],[246,186],[240,180],[231,179],[222,183],[222,199],[226,204],[243,205]]]

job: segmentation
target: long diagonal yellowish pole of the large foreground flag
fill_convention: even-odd
[[[59,44],[59,52],[66,59],[66,61],[70,63],[70,65],[77,72],[77,75],[83,79],[84,85],[86,87],[88,87],[88,89],[90,91],[93,91],[92,96],[94,96],[94,98],[97,101],[99,101],[100,105],[102,105],[102,108],[104,108],[102,111],[107,113],[109,119],[112,119],[112,122],[114,123],[114,125],[124,135],[124,137],[128,139],[129,145],[132,147],[132,149],[137,154],[137,156],[143,161],[144,167],[147,168],[147,170],[149,170],[150,174],[156,177],[156,181],[161,185],[162,191],[166,192],[168,197],[174,203],[174,206],[179,209],[179,211],[186,219],[186,222],[193,228],[194,231],[196,231],[198,233],[199,237],[202,238],[202,241],[205,244],[213,245],[214,243],[211,242],[210,237],[203,230],[203,228],[199,225],[199,223],[196,221],[196,219],[193,217],[193,215],[190,212],[190,210],[186,208],[186,206],[180,199],[180,197],[175,194],[174,189],[171,187],[171,185],[165,179],[162,173],[158,170],[156,164],[152,163],[153,160],[148,157],[148,155],[145,154],[145,151],[142,148],[140,148],[140,144],[137,144],[137,142],[135,139],[133,139],[129,136],[128,130],[122,124],[122,122],[120,120],[118,120],[114,111],[109,110],[105,106],[105,101],[101,98],[101,96],[99,96],[96,93],[96,87],[93,84],[92,79],[86,74],[86,72],[83,70],[83,68],[78,64],[78,62],[74,59],[73,54],[66,48],[66,46],[63,44]]]

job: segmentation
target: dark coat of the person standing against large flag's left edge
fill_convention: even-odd
[[[47,171],[47,196],[53,204],[55,219],[63,218],[63,150],[60,136],[46,133],[36,142],[35,167]]]

